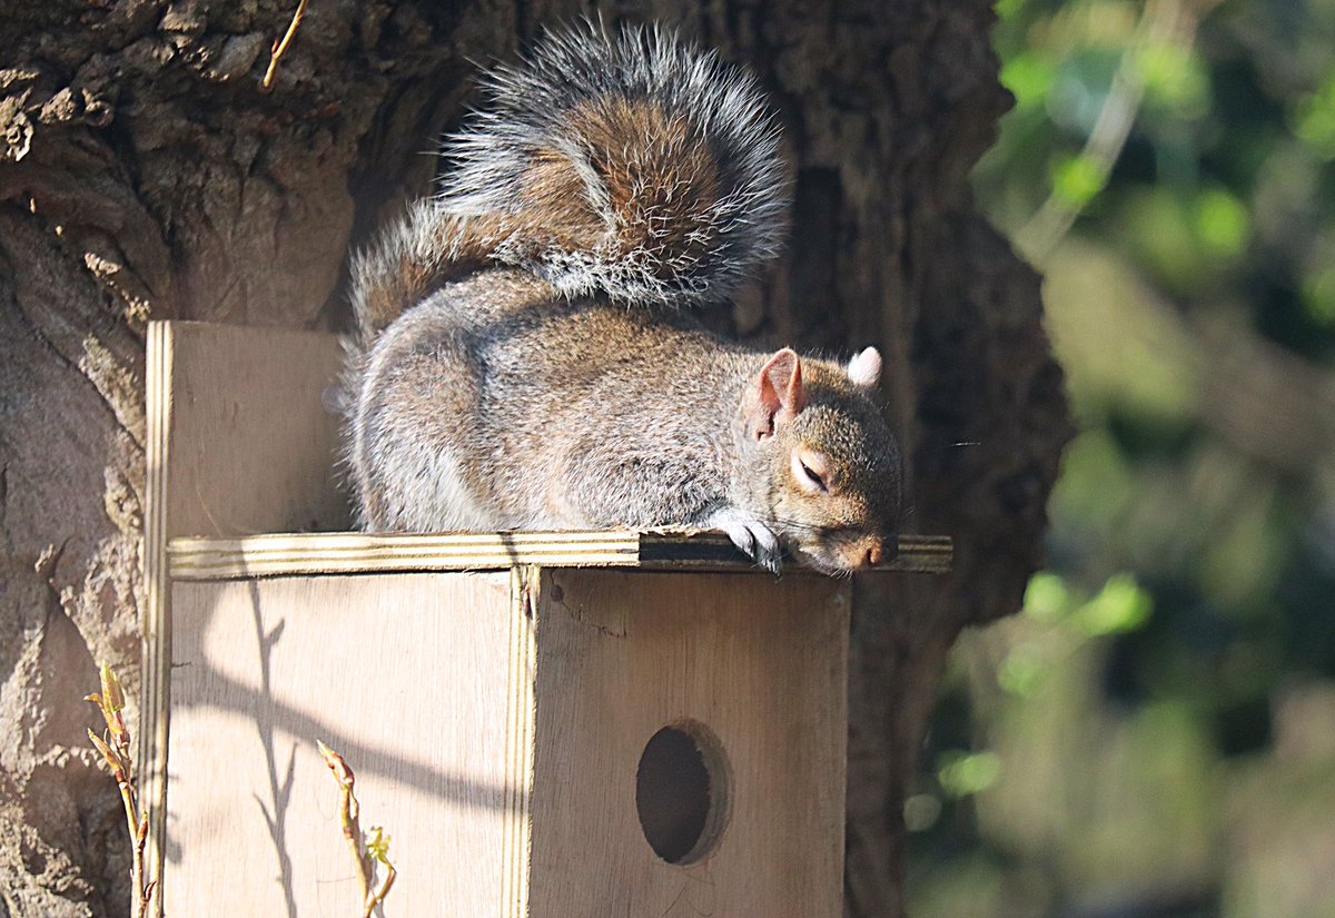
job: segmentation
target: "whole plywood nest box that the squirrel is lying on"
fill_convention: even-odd
[[[841,914],[850,587],[716,534],[347,528],[332,335],[154,323],[144,799],[172,918]],[[279,535],[299,532],[296,535]],[[894,568],[941,571],[905,538]]]

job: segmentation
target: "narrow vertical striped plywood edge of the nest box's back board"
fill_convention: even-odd
[[[148,818],[144,869],[156,881],[152,914],[162,915],[167,814],[167,711],[171,690],[171,584],[167,559],[167,467],[171,443],[172,327],[148,323],[146,363],[147,498],[144,508],[143,666],[139,703],[139,793]]]

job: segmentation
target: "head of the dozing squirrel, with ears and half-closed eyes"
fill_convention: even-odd
[[[900,454],[873,392],[881,355],[846,366],[784,348],[742,400],[748,476],[784,546],[822,571],[890,560],[897,550]],[[757,468],[760,466],[760,468]]]

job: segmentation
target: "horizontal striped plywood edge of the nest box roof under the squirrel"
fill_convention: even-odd
[[[367,535],[319,532],[240,539],[178,538],[168,546],[182,580],[390,571],[478,571],[537,567],[637,567],[658,571],[760,571],[712,531],[462,532]],[[943,574],[948,536],[904,535],[896,559],[877,570]],[[801,572],[804,568],[790,566]]]

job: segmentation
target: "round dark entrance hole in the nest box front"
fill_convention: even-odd
[[[696,721],[666,726],[645,745],[635,773],[635,811],[645,841],[668,863],[696,863],[728,823],[728,759]]]

